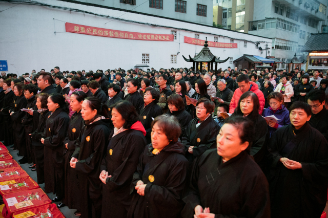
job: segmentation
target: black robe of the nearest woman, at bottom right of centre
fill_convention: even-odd
[[[269,185],[246,151],[222,163],[217,149],[195,160],[182,217],[194,217],[195,207],[209,207],[220,218],[270,217]]]

